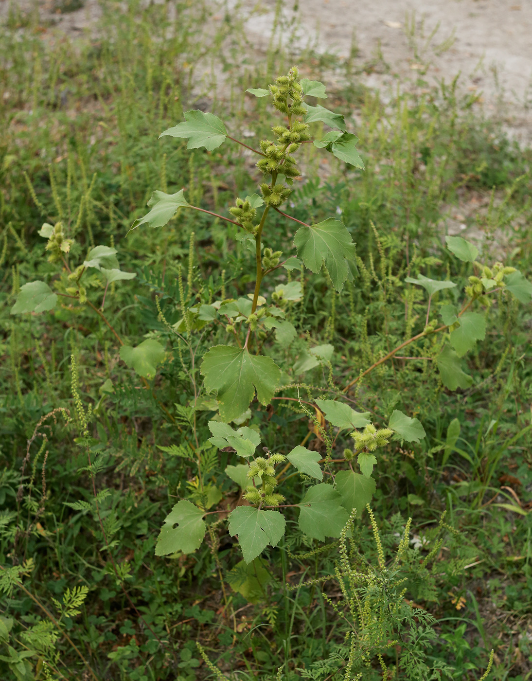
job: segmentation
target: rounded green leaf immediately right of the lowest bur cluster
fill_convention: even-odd
[[[312,539],[325,541],[325,537],[339,537],[349,513],[342,506],[342,497],[332,485],[314,485],[298,504],[299,528]]]

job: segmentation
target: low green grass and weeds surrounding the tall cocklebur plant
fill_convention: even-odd
[[[93,37],[69,39],[43,24],[37,10],[23,14],[15,3],[0,29],[0,565],[34,561],[23,578],[25,590],[6,589],[0,614],[14,619],[10,645],[19,652],[35,641],[32,628],[50,621],[41,619],[32,598],[61,616],[57,641],[37,631],[40,648],[32,644],[29,668],[21,662],[26,676],[16,676],[3,645],[1,676],[80,678],[90,667],[101,680],[192,681],[213,674],[198,641],[230,678],[275,678],[282,667],[280,678],[325,681],[331,673],[318,663],[343,644],[345,634],[332,609],[341,603],[339,585],[326,582],[325,595],[316,584],[294,586],[331,575],[336,545],[316,551],[294,530],[287,537],[290,553],[272,550],[264,560],[264,582],[251,580],[255,595],[249,600],[230,586],[238,586],[240,554],[228,535],[215,533],[210,546],[191,555],[155,558],[161,520],[193,477],[182,460],[158,448],[176,441],[175,424],[140,389],[119,359],[116,338],[89,308],[64,304],[54,315],[10,316],[20,285],[50,279],[55,271],[43,258],[37,232],[44,221],[59,219],[77,240],[72,260],[94,244],[114,245],[122,268],[137,272],[135,286],[117,283],[106,302],[116,332],[134,342],[146,334],[165,337],[157,291],[166,296],[168,321],[179,321],[177,266],[187,268],[192,231],[195,281],[213,291],[224,282],[235,295],[249,288],[249,253],[235,232],[206,215],[183,213],[176,229],[125,235],[144,215],[153,189],[186,186],[191,203],[215,212],[253,190],[255,170],[245,153],[189,154],[184,144],[157,136],[184,110],[206,108],[238,136],[251,113],[260,138],[266,105],[259,100],[253,109],[240,93],[270,82],[290,64],[287,54],[272,39],[268,54],[257,60],[242,39],[242,15],[228,16],[223,5],[180,1],[172,22],[166,4],[101,6]],[[530,150],[513,146],[496,121],[482,118],[456,83],[423,95],[406,92],[385,105],[360,84],[349,84],[351,61],[311,50],[300,56],[309,78],[330,68],[340,82],[345,76],[328,106],[356,112],[357,123],[350,125],[366,171],[320,163],[309,145],[306,176],[292,195],[292,213],[300,220],[341,212],[366,267],[341,296],[322,274],[314,276],[293,311],[301,349],[304,334],[340,349],[334,375],[344,383],[356,376],[354,367],[369,366],[403,337],[405,291],[399,282],[409,269],[422,264],[427,276],[437,276],[454,266],[442,249],[442,223],[449,216],[464,215],[493,251],[500,253],[504,244],[497,257],[532,272]],[[274,230],[274,241],[287,250],[290,234],[281,219]],[[236,272],[232,279],[230,272]],[[93,281],[101,294],[99,286]],[[421,296],[409,295],[407,326],[413,328],[422,314]],[[437,620],[430,656],[454,665],[450,678],[478,679],[494,648],[493,678],[525,681],[532,678],[532,461],[525,430],[532,390],[530,306],[494,308],[497,333],[469,363],[474,383],[468,390],[450,393],[427,362],[405,359],[375,370],[351,399],[383,416],[404,408],[428,434],[419,447],[396,447],[379,460],[373,511],[387,558],[407,516],[413,516],[413,540],[423,546],[447,513],[450,530],[433,573],[408,573],[413,601]],[[418,356],[423,353],[420,347]],[[91,463],[79,444],[72,354],[80,399],[85,409],[93,405],[98,507],[84,470]],[[322,381],[319,369],[309,377]],[[173,405],[187,404],[189,388],[177,347],[155,387],[166,409],[179,415]],[[272,451],[295,440],[313,442],[319,451],[323,441],[313,427],[309,432],[307,417],[289,407],[276,403],[254,417],[268,429]],[[69,410],[72,422],[63,413],[50,416],[59,408]],[[460,434],[450,445],[455,418]],[[185,422],[178,426],[186,429]],[[337,446],[341,451],[347,444],[339,440]],[[356,526],[355,540],[364,558],[375,562],[365,521]],[[64,601],[65,590],[76,586],[89,588],[87,601],[80,614],[61,615],[52,599]],[[28,631],[33,639],[25,638]],[[393,665],[394,655],[386,663]],[[368,669],[367,678],[382,678],[382,671]]]

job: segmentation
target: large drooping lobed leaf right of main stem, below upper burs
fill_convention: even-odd
[[[330,217],[317,225],[300,227],[294,236],[298,257],[314,273],[325,264],[337,291],[349,276],[349,260],[355,258],[355,244],[345,225]]]

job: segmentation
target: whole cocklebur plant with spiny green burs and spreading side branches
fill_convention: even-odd
[[[429,279],[418,272],[416,279],[408,276],[404,282],[420,285],[428,294],[422,330],[398,344],[368,368],[357,367],[358,375],[347,385],[335,383],[337,379],[334,378],[330,362],[331,345],[309,347],[308,351],[294,357],[292,341],[298,336],[298,331],[290,312],[294,304],[300,304],[305,282],[302,277],[300,281],[294,281],[293,273],[301,272],[302,268],[313,273],[323,269],[326,281],[338,293],[344,289],[346,282],[351,285],[356,276],[355,244],[341,221],[330,217],[317,224],[307,224],[281,210],[280,206],[287,202],[292,193],[294,179],[300,176],[294,155],[303,144],[311,144],[312,125],[319,122],[331,130],[321,140],[312,142],[315,148],[325,149],[354,168],[362,169],[363,164],[356,149],[357,138],[347,132],[344,117],[322,106],[307,103],[308,97],[327,97],[322,83],[300,79],[298,69],[293,67],[268,89],[250,89],[249,92],[255,97],[270,96],[273,108],[282,118],[281,123],[271,127],[273,138],[261,140],[258,149],[230,136],[217,116],[202,111],[186,112],[185,122],[164,131],[161,137],[185,139],[187,148],[205,148],[208,153],[219,148],[226,140],[245,146],[259,157],[257,170],[263,180],[259,183],[260,194],[238,197],[234,206],[229,208],[232,216],[229,218],[199,206],[191,206],[185,198],[184,189],[173,194],[155,191],[148,202],[151,210],[132,226],[132,229],[142,225],[163,227],[176,217],[181,208],[199,210],[237,227],[240,230],[237,238],[251,245],[255,257],[254,266],[250,266],[248,272],[248,280],[254,281],[253,291],[236,299],[228,298],[228,282],[225,279],[222,279],[219,287],[215,283],[201,283],[199,290],[194,290],[191,247],[186,291],[182,268],[178,268],[176,306],[181,311],[181,320],[170,324],[157,300],[159,319],[172,334],[171,337],[176,339],[176,354],[183,364],[183,375],[193,386],[194,397],[189,405],[194,414],[193,437],[183,436],[183,441],[176,445],[181,452],[178,456],[189,458],[197,467],[197,475],[189,480],[188,498],[174,506],[161,529],[156,549],[159,555],[178,550],[193,552],[202,543],[206,533],[205,519],[209,522],[211,516],[225,513],[211,510],[221,499],[221,491],[213,479],[216,469],[215,447],[235,455],[234,464],[225,466],[223,471],[217,473],[221,473],[222,479],[225,476],[226,480],[236,482],[247,497],[245,501],[249,503],[249,506],[236,507],[229,516],[229,531],[232,535],[238,535],[247,562],[258,556],[266,546],[279,543],[285,531],[285,514],[294,511],[299,514],[300,530],[309,538],[324,541],[325,537],[338,537],[346,514],[354,508],[362,513],[375,492],[375,479],[372,477],[377,463],[375,450],[386,447],[390,437],[409,443],[419,443],[425,437],[424,428],[418,419],[410,418],[398,410],[393,411],[384,428],[370,424],[369,413],[351,409],[346,402],[338,399],[341,394],[349,392],[360,379],[393,358],[400,349],[418,340],[428,344],[430,358],[437,366],[445,387],[449,390],[469,387],[472,379],[463,371],[460,358],[473,349],[475,342],[482,340],[486,333],[484,315],[470,311],[471,306],[488,306],[490,296],[496,293],[501,296],[505,291],[510,291],[523,302],[532,299],[532,285],[520,272],[501,264],[481,264],[477,260],[478,249],[472,244],[459,237],[448,237],[450,252],[473,268],[471,279],[465,287],[465,299],[460,306],[456,305],[456,283]],[[275,244],[264,244],[268,238],[268,216],[271,217],[274,211],[298,225],[293,240],[295,255],[283,254],[275,248]],[[45,224],[40,234],[48,239],[50,257],[63,264],[64,269],[54,283],[57,293],[44,282],[27,283],[20,289],[12,313],[50,310],[57,304],[57,296],[70,297],[78,304],[89,305],[123,346],[121,358],[143,377],[146,387],[151,387],[146,379],[155,375],[157,364],[163,361],[166,354],[159,342],[160,336],[159,340],[149,338],[136,347],[127,346],[101,309],[108,285],[120,279],[131,279],[135,274],[121,272],[115,249],[105,246],[95,247],[82,264],[71,268],[67,257],[73,244],[67,238],[63,226]],[[365,267],[362,261],[359,265],[361,269]],[[97,270],[97,274],[89,276],[90,268]],[[93,304],[91,287],[104,289],[101,306]],[[218,298],[217,294],[220,294]],[[452,298],[439,300],[439,296],[451,295]],[[443,325],[438,325],[435,309],[438,309]],[[272,333],[275,333],[275,342],[285,350],[285,356],[281,355],[281,359],[277,358],[268,344]],[[219,338],[225,342],[214,347],[212,342],[208,342]],[[204,351],[205,344],[211,346],[207,351]],[[202,352],[204,354],[200,361]],[[275,355],[275,359],[271,355]],[[303,355],[306,358],[301,362]],[[261,443],[258,430],[249,426],[235,430],[229,423],[240,426],[249,422],[249,407],[255,396],[262,405],[268,405],[281,391],[294,395],[286,395],[287,399],[300,401],[296,383],[298,375],[320,364],[329,369],[328,385],[307,390],[309,398],[313,400],[311,404],[315,405],[323,423],[328,422],[329,429],[338,429],[334,440],[342,432],[355,432],[354,449],[345,449],[343,458],[332,460],[332,435],[330,432],[328,434],[326,428],[319,426],[323,430],[322,439],[329,443],[328,452],[323,458],[302,445],[255,458],[255,450]],[[200,385],[198,370],[203,377],[203,385]],[[206,397],[205,393],[209,396]],[[320,394],[320,397],[316,397],[316,394]],[[337,399],[323,398],[327,394]],[[213,437],[200,443],[195,424],[196,413],[201,409],[214,412],[215,417],[208,424]],[[166,407],[164,411],[171,416]],[[287,464],[279,471],[276,466],[281,465],[282,456],[286,457]],[[262,469],[261,466],[266,467]],[[287,494],[284,494],[282,483],[287,466],[295,466],[304,476],[302,481],[307,487],[302,498],[289,498],[288,501],[292,503],[284,504],[281,501],[287,501],[283,498]],[[358,469],[354,466],[358,466]],[[251,475],[248,475],[250,471]],[[327,482],[324,481],[324,475],[327,476]],[[309,478],[315,479],[317,484],[308,486]],[[337,522],[331,521],[331,518],[337,518]]]

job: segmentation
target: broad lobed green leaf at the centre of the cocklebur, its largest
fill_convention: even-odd
[[[281,381],[281,370],[271,358],[228,345],[211,348],[204,355],[200,371],[207,392],[217,391],[220,415],[225,421],[246,411],[255,390],[259,402],[267,405]]]

